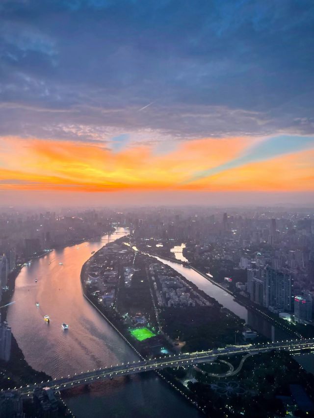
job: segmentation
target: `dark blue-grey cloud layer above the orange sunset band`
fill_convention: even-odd
[[[0,14],[2,135],[314,133],[313,1],[7,0]]]

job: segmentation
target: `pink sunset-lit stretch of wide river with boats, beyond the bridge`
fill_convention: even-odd
[[[123,231],[127,233],[123,228],[117,232]],[[79,249],[53,250],[21,270],[8,322],[34,369],[60,377],[136,359],[131,348],[83,298],[79,280],[91,252],[120,236],[105,236],[105,241],[79,245]],[[44,315],[49,315],[50,323],[44,321]],[[62,322],[69,324],[68,330],[62,329]]]

